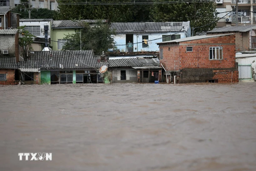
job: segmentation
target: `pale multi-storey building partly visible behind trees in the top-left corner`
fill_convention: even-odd
[[[48,8],[49,10],[57,10],[57,0],[29,0],[31,8]],[[20,0],[0,0],[0,6],[10,6],[11,8],[22,4]]]

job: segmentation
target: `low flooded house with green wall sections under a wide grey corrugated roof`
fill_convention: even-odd
[[[25,83],[97,83],[103,82],[98,75],[100,57],[93,51],[35,51],[25,61],[19,62],[19,69]],[[32,82],[31,82],[32,81]]]

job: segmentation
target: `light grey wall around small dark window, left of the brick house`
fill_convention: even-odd
[[[120,79],[120,71],[125,70],[126,80]],[[118,68],[113,69],[113,83],[124,83],[124,82],[138,82],[137,70],[131,68]]]

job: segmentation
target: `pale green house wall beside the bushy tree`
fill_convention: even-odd
[[[58,50],[58,39],[65,39],[66,35],[75,33],[75,29],[53,29],[52,50]]]

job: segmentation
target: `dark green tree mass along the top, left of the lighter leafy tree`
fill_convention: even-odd
[[[110,22],[150,20],[150,5],[115,5],[119,2],[116,0],[88,0],[87,2],[106,3],[107,5],[76,5],[81,3],[81,1],[58,0],[58,19],[108,19]],[[127,0],[125,2],[134,3],[134,0]],[[71,5],[62,3],[70,3]]]

